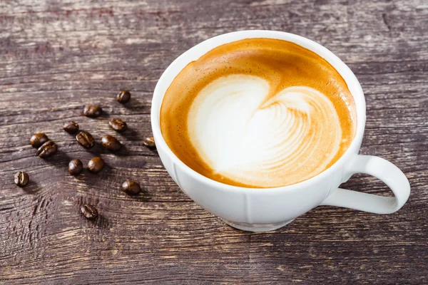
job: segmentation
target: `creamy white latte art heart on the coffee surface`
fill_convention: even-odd
[[[322,172],[340,149],[334,105],[305,87],[267,98],[263,78],[230,75],[200,90],[188,113],[188,133],[218,174],[257,187],[287,185]]]

